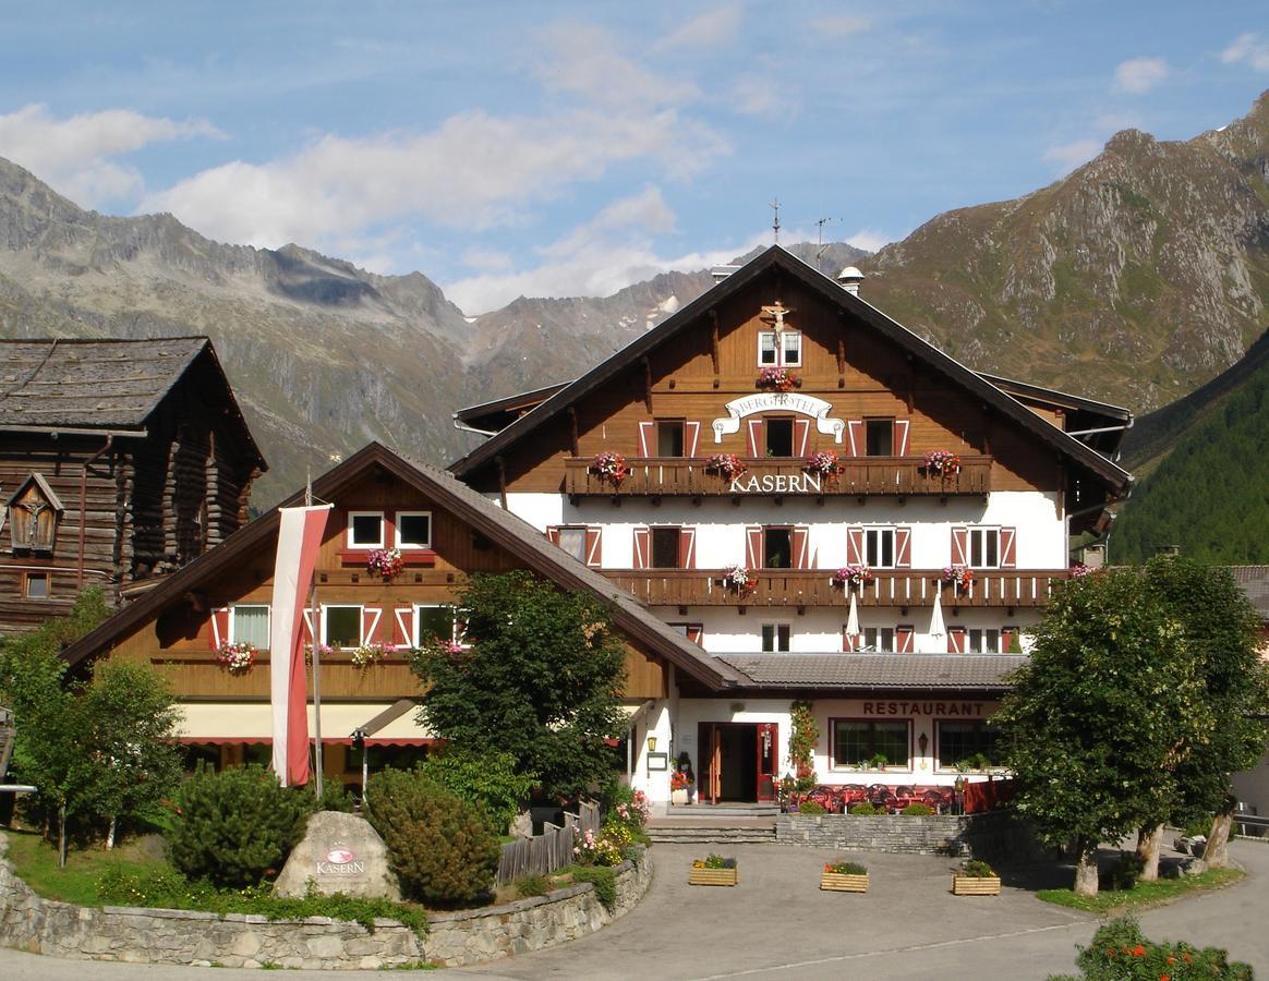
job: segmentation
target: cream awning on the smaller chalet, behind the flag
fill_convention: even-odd
[[[395,702],[322,702],[322,742],[350,745],[353,730],[364,726]],[[181,742],[273,742],[273,716],[268,702],[190,702],[178,706],[184,718],[178,725]],[[308,706],[308,731],[315,728],[313,707]],[[435,736],[406,712],[371,739],[371,746],[421,746]]]

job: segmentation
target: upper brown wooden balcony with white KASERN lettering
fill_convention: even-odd
[[[704,457],[627,458],[629,476],[614,487],[590,472],[589,457],[565,459],[565,492],[570,497],[744,497],[744,496],[923,496],[947,499],[986,495],[991,490],[991,457],[961,457],[961,472],[947,480],[926,475],[921,457],[845,457],[841,473],[807,473],[801,457],[745,459],[740,477],[728,480],[706,471]]]

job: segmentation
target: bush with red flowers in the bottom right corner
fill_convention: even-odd
[[[1132,916],[1110,920],[1093,934],[1093,942],[1080,948],[1075,958],[1081,981],[1119,981],[1119,978],[1169,977],[1171,981],[1218,978],[1251,981],[1251,967],[1231,962],[1216,947],[1202,949],[1180,943],[1155,943],[1146,938]]]

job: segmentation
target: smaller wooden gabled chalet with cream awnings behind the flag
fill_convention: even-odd
[[[368,728],[374,765],[418,755],[430,742],[415,718],[421,690],[405,654],[391,651],[358,665],[358,649],[410,649],[425,637],[448,638],[456,589],[473,572],[528,569],[561,589],[615,599],[613,622],[627,645],[626,703],[633,726],[643,707],[676,687],[676,676],[690,675],[706,690],[741,679],[444,471],[372,443],[316,478],[312,494],[334,505],[308,613],[310,637],[316,631],[334,649],[321,659],[321,731],[331,778],[354,782],[359,773],[359,755],[346,753],[355,728]],[[301,501],[297,494],[279,508]],[[102,657],[160,665],[171,673],[181,702],[184,742],[218,764],[268,761],[269,604],[279,520],[277,508],[268,511],[69,647],[63,656],[72,671],[82,674]],[[369,567],[371,556],[385,548],[400,550],[405,563],[388,577]],[[247,670],[233,670],[217,654],[241,642],[259,654]]]

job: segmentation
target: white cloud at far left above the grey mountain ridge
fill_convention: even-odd
[[[131,109],[55,119],[47,105],[32,104],[0,115],[0,156],[89,207],[142,192],[141,174],[114,157],[150,143],[220,136],[216,127],[202,119],[181,122]]]

